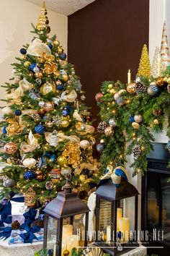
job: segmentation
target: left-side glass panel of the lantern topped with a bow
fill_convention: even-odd
[[[99,208],[99,241],[109,242],[111,223],[111,202],[100,200]]]

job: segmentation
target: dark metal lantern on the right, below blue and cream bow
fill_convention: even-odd
[[[97,189],[96,195],[95,244],[110,255],[120,255],[137,247],[138,190],[123,178],[119,187],[112,182],[112,179],[107,179],[107,182]],[[129,213],[125,207],[128,197],[134,199]],[[130,221],[130,216],[133,221]]]

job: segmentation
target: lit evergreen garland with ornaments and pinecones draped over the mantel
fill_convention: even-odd
[[[170,67],[163,77],[140,76],[127,86],[120,81],[103,82],[96,99],[102,121],[97,150],[100,174],[107,164],[123,164],[125,155],[133,153],[133,176],[147,170],[147,155],[153,150],[153,134],[161,132],[168,116],[167,136],[170,137]],[[166,146],[170,150],[170,140]],[[170,167],[170,161],[169,161]]]

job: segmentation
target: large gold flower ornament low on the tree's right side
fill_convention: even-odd
[[[68,143],[62,155],[67,158],[67,163],[75,168],[80,160],[81,150],[79,143]]]

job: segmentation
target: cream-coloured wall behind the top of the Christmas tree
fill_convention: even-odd
[[[20,56],[19,49],[24,43],[30,43],[33,34],[31,23],[37,25],[40,7],[24,0],[1,1],[0,15],[0,85],[9,82],[12,77],[12,66],[15,57]],[[48,11],[50,35],[57,35],[58,40],[67,52],[68,18],[56,12]],[[0,88],[0,98],[5,98],[5,90]],[[0,103],[3,105],[4,103]]]

